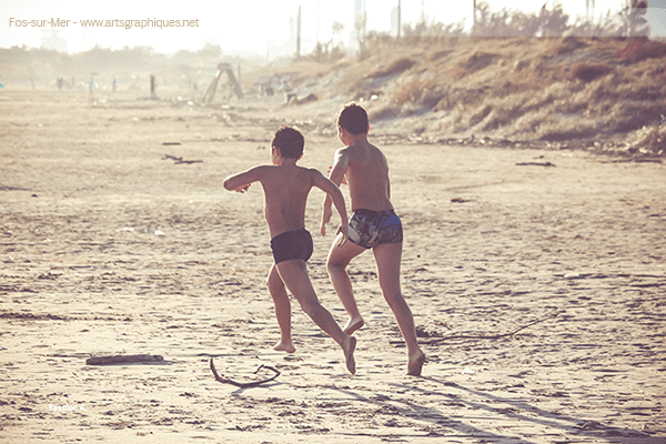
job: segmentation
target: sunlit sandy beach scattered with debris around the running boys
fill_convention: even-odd
[[[342,104],[312,107],[332,122]],[[0,107],[0,441],[666,443],[660,160],[371,130],[427,362],[405,375],[366,253],[350,266],[366,321],[351,375],[296,304],[296,352],[272,350],[263,193],[222,188],[269,162],[281,124],[299,124],[300,163],[325,172],[341,144],[313,108],[9,89]],[[344,324],[322,199],[309,269]],[[163,360],[85,364],[134,354]],[[270,376],[260,365],[280,375],[236,387],[211,359],[239,382]]]

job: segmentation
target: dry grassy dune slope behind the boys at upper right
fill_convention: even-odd
[[[364,60],[301,64],[294,83],[310,85],[320,99],[363,100],[379,124],[416,118],[412,130],[424,135],[626,141],[638,132],[658,135],[639,150],[620,145],[666,152],[666,43],[574,37],[391,42],[377,41]],[[326,88],[313,83],[323,73]]]

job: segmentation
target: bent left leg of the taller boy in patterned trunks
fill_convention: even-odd
[[[341,241],[340,236],[342,236],[342,234],[335,239],[331,246],[326,266],[329,269],[329,276],[333,283],[333,289],[335,289],[337,297],[340,297],[344,310],[350,315],[350,320],[342,330],[346,334],[352,334],[363,326],[364,321],[356,306],[352,281],[346,272],[346,266],[352,259],[363,253],[365,249],[350,241],[346,241],[342,246],[337,246]]]

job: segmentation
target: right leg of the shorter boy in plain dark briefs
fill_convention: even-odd
[[[352,374],[356,373],[356,363],[354,361],[356,339],[344,333],[333,319],[333,315],[319,302],[307,275],[305,261],[284,261],[280,262],[276,266],[282,282],[284,282],[289,291],[299,301],[305,314],[342,347],[347,370]]]

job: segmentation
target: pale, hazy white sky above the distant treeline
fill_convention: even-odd
[[[487,3],[495,12],[507,9],[529,13],[538,11],[543,6],[542,2],[528,0],[494,0]],[[606,13],[616,14],[626,4],[625,0],[545,2],[548,9],[554,9],[557,3],[562,3],[565,13],[569,16],[569,23],[586,18],[598,21]],[[648,8],[653,37],[666,37],[666,0],[652,0],[650,3],[657,4]],[[112,8],[104,8],[102,11],[99,6],[80,0],[59,3],[28,0],[3,7],[0,47],[46,48],[70,54],[95,47],[111,50],[148,47],[157,53],[174,54],[180,50],[199,51],[210,43],[219,46],[223,54],[270,60],[293,54],[299,9],[301,53],[310,53],[317,41],[332,40],[353,48],[353,20],[356,10],[365,10],[367,31],[395,33],[396,6],[397,1],[381,0],[344,0],[343,6],[340,1],[325,0],[248,0],[241,4],[235,1],[210,4],[191,0],[185,8],[182,4],[173,7],[118,0],[112,3]],[[465,29],[471,26],[472,1],[458,2],[452,7],[443,6],[436,0],[402,0],[401,6],[403,26],[422,19],[428,23],[464,23]],[[89,20],[95,22],[83,26]],[[332,30],[334,22],[344,26],[336,34]]]

